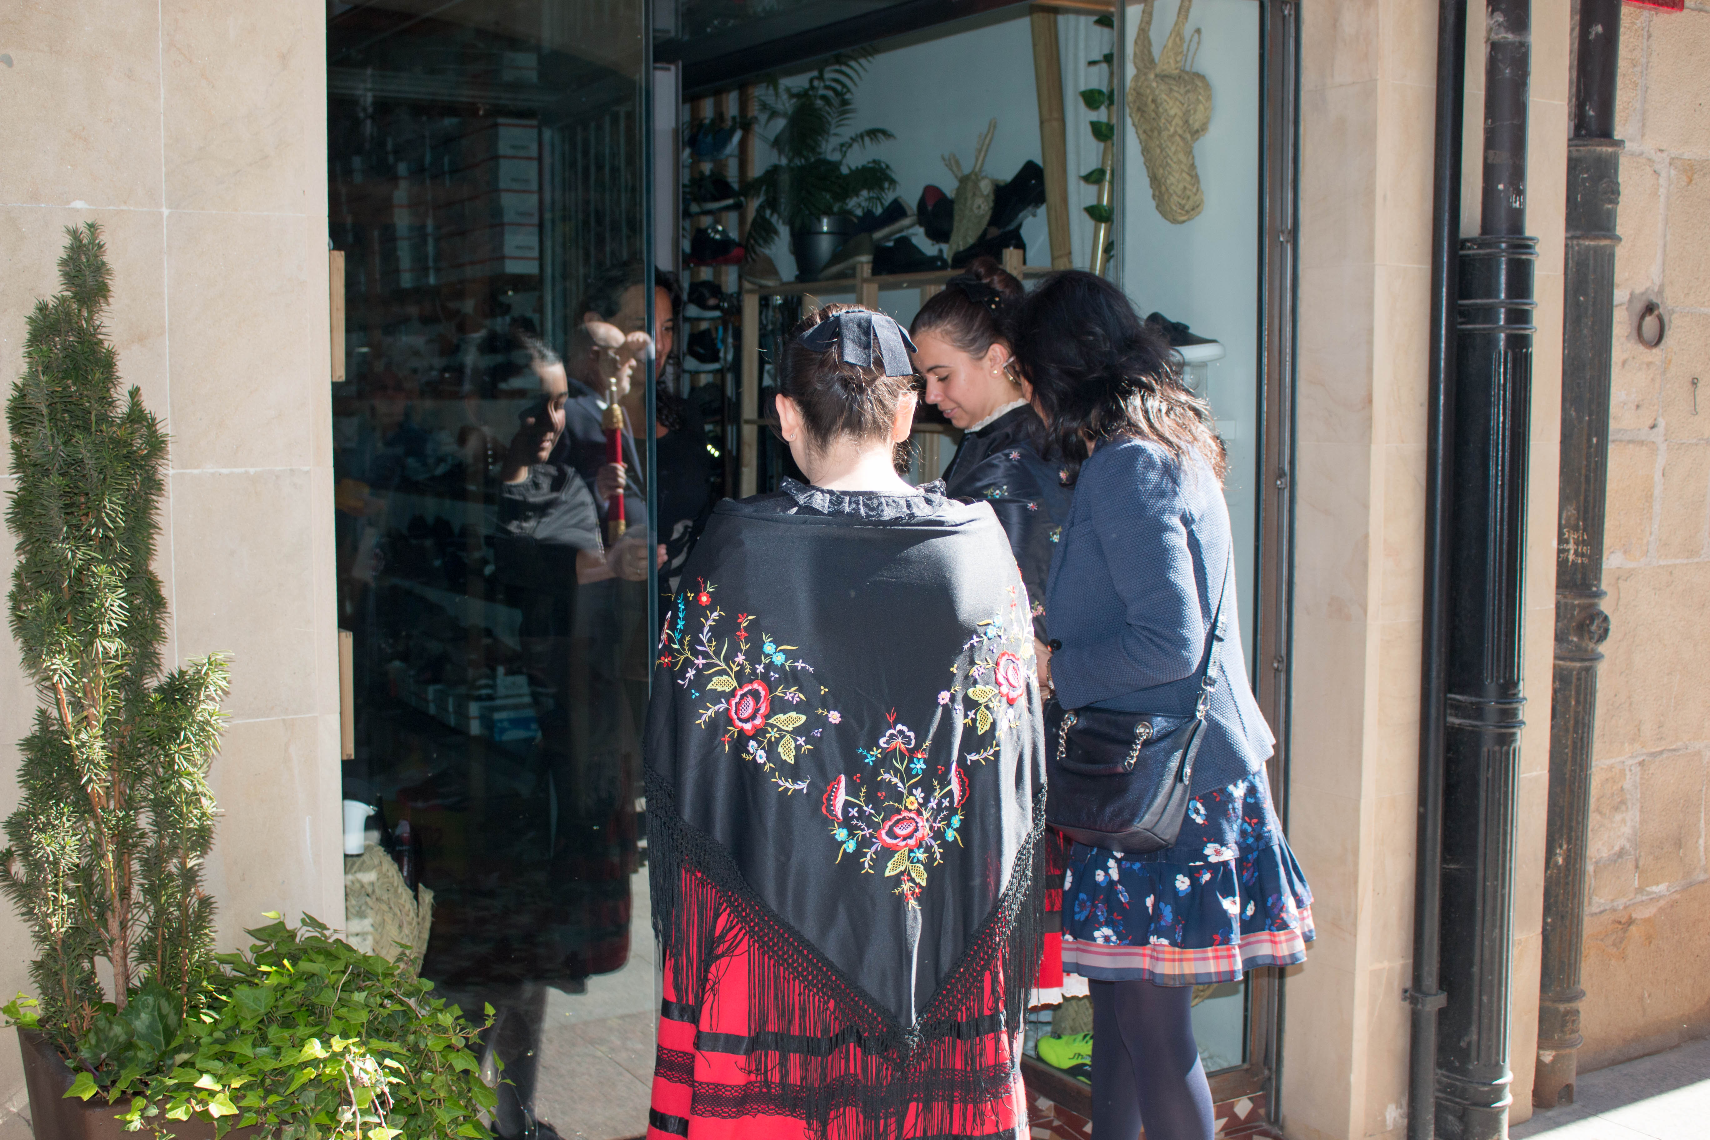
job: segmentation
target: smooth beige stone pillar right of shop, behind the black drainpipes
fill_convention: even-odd
[[[1483,5],[1471,5],[1477,231]],[[1436,3],[1301,5],[1300,412],[1289,839],[1318,942],[1291,971],[1282,1125],[1402,1137],[1418,807]],[[1554,615],[1568,5],[1534,3],[1529,231],[1539,238],[1515,913],[1512,1119],[1530,1113]]]

